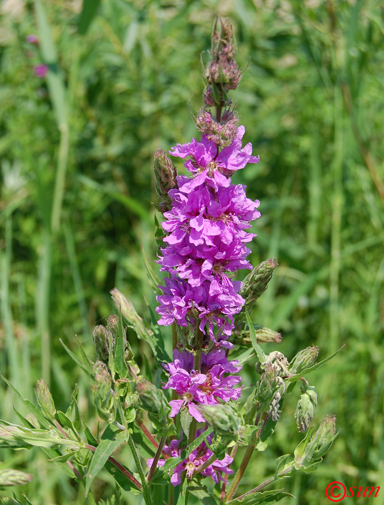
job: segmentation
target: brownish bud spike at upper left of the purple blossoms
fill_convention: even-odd
[[[172,207],[172,199],[168,195],[170,189],[178,187],[177,170],[172,160],[163,149],[156,149],[154,160],[155,189],[159,197],[156,209],[164,214]]]

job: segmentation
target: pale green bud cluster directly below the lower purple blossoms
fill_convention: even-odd
[[[229,404],[206,405],[200,403],[196,405],[196,409],[206,422],[214,428],[215,432],[220,433],[225,438],[232,438],[244,424],[241,415]]]

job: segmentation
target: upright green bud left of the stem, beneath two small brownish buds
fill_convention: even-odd
[[[93,367],[94,384],[92,392],[94,395],[94,405],[99,416],[112,423],[116,419],[116,409],[113,396],[111,394],[112,376],[105,363],[97,361]]]

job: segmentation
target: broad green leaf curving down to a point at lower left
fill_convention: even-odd
[[[109,425],[102,435],[102,439],[90,460],[87,476],[85,479],[85,494],[88,494],[89,487],[93,479],[107,463],[112,452],[123,442],[127,442],[131,430],[118,430],[115,426]]]

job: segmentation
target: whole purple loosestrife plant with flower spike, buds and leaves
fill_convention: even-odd
[[[164,280],[146,256],[144,263],[160,319],[151,310],[148,323],[115,288],[117,314],[94,329],[95,356],[88,358],[79,343],[79,359],[63,344],[89,378],[102,430],[95,433],[87,426],[77,386],[64,413],[57,411],[43,380],[35,389],[40,410],[23,400],[33,415],[19,415],[24,426],[0,421],[0,448],[42,447],[84,485],[91,503],[90,486],[103,467],[116,481],[116,500],[124,489],[141,494],[146,505],[176,505],[176,499],[185,505],[189,494],[209,505],[276,502],[287,493],[264,487],[298,470],[315,470],[338,435],[335,417],[327,416],[311,436],[318,398],[304,377],[331,357],[316,364],[316,346],[301,350],[291,364],[279,351],[266,355],[260,342],[280,342],[281,335],[253,324],[250,316],[277,261],[270,258],[255,268],[249,263],[248,245],[256,236],[249,229],[260,216],[259,201],[247,197],[246,186],[231,181],[247,163],[259,162],[251,143],[243,146],[245,128],[238,125],[228,96],[242,76],[235,54],[231,24],[217,19],[204,69],[204,105],[196,117],[202,137],[169,150],[183,160],[185,173],[178,175],[164,150],[155,151],[154,205],[163,215],[161,224],[155,218],[156,261]],[[235,280],[241,269],[251,270],[243,282]],[[162,326],[172,327],[173,359]],[[140,370],[128,328],[151,348],[151,366]],[[244,388],[238,374],[252,360],[253,385]],[[273,434],[284,396],[298,381],[295,418],[305,438],[292,456],[276,460],[272,477],[234,498],[254,453],[265,450]],[[112,456],[120,445],[129,446],[135,468]],[[239,446],[245,450],[238,459]]]

